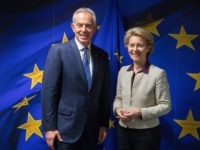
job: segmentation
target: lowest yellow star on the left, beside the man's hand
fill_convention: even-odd
[[[20,125],[18,128],[26,130],[26,141],[27,141],[33,133],[43,138],[42,132],[40,131],[40,126],[41,126],[41,120],[35,120],[32,117],[32,115],[28,113],[27,122]]]

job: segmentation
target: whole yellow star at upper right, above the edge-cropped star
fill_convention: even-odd
[[[178,42],[176,45],[176,49],[182,46],[188,46],[189,48],[195,50],[194,46],[192,45],[192,40],[198,37],[198,35],[195,34],[187,34],[184,27],[181,26],[181,30],[179,34],[169,34],[173,38],[175,38]]]

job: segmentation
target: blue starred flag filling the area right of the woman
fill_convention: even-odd
[[[160,117],[162,137],[160,149],[198,150],[200,148],[199,2],[197,0],[119,2],[125,30],[133,26],[142,26],[149,30],[155,40],[150,62],[167,72],[172,110]]]

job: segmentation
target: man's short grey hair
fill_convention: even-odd
[[[73,23],[76,22],[76,15],[79,14],[79,13],[90,13],[92,15],[92,18],[93,18],[93,23],[96,24],[95,12],[92,9],[86,8],[86,7],[79,8],[74,12],[73,18],[72,18]]]

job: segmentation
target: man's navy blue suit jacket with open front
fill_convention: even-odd
[[[76,142],[85,129],[97,141],[99,127],[109,122],[109,61],[102,49],[91,44],[93,79],[90,91],[78,47],[73,40],[51,47],[42,88],[44,131],[58,129],[64,142]]]

